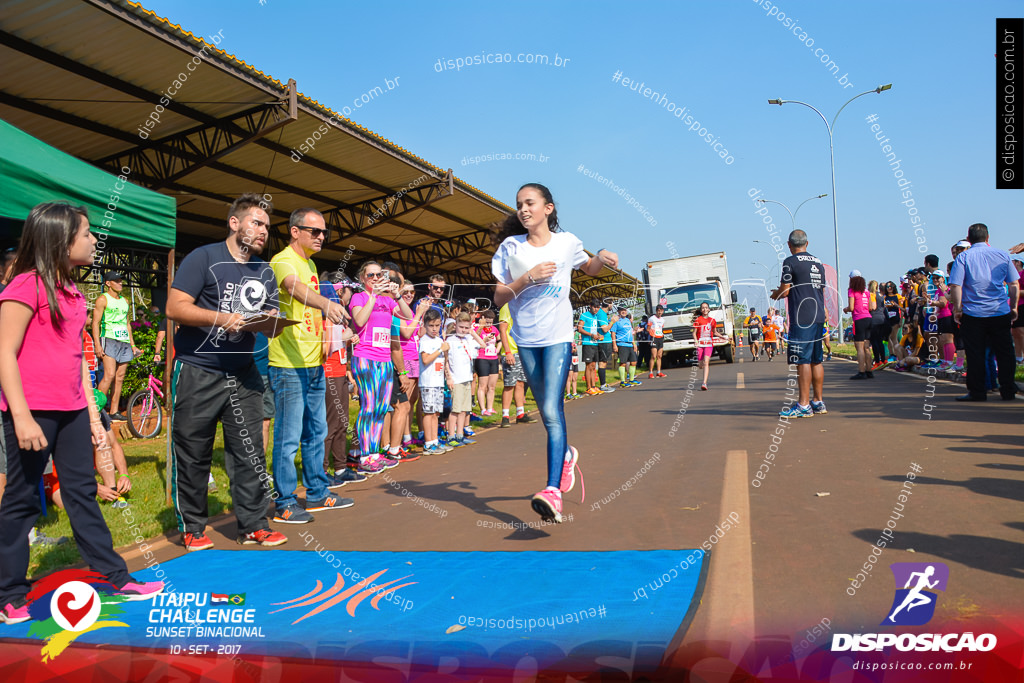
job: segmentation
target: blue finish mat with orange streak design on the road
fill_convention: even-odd
[[[471,669],[527,655],[556,669],[618,656],[653,670],[689,626],[707,563],[699,550],[206,550],[163,563],[168,592],[123,603],[127,628],[84,633],[76,645],[348,661],[450,657]],[[25,638],[30,625],[5,626],[0,636]]]

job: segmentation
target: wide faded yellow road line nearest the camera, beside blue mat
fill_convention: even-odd
[[[725,531],[712,552],[706,639],[728,641],[733,653],[741,654],[755,633],[750,477],[745,451],[729,451],[725,458],[720,516],[726,519],[735,512],[739,522]]]

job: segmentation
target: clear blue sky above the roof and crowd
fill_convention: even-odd
[[[734,281],[765,278],[752,261],[773,266],[775,257],[753,243],[767,230],[748,190],[793,209],[831,195],[821,119],[767,100],[803,100],[830,121],[851,96],[886,83],[892,90],[852,102],[836,126],[841,283],[850,268],[895,280],[923,261],[870,114],[912,182],[929,252],[943,265],[973,222],[989,226],[995,247],[1024,242],[1024,193],[994,189],[993,151],[995,17],[1019,15],[1019,2],[784,0],[777,11],[796,19],[790,28],[765,0],[143,4],[196,34],[222,29],[220,47],[279,80],[294,78],[335,110],[399,77],[397,88],[353,109],[352,120],[509,205],[521,183],[543,182],[562,226],[591,250],[617,251],[633,274],[669,257],[671,241],[682,255],[725,250]],[[806,36],[793,33],[797,25]],[[436,69],[438,59],[488,53],[568,62]],[[688,108],[734,161],[726,165],[667,109],[613,82],[615,72]],[[853,87],[840,85],[844,74]],[[462,163],[517,153],[538,160]],[[627,188],[656,225],[578,172],[581,164]],[[785,211],[767,206],[787,232]],[[830,197],[804,206],[798,223],[810,251],[835,263]],[[736,289],[763,305],[759,288]]]

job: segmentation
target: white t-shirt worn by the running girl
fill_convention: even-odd
[[[572,270],[590,257],[583,243],[571,232],[552,232],[543,247],[526,243],[526,234],[507,238],[490,259],[490,272],[499,283],[508,285],[527,270],[546,261],[555,263],[555,274],[547,281],[529,285],[509,302],[515,327],[512,332],[518,346],[552,346],[572,341],[572,305],[569,289]]]

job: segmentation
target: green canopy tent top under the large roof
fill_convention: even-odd
[[[97,237],[174,248],[177,203],[132,184],[130,169],[111,175],[0,120],[0,216],[25,220],[42,202],[89,209]]]

